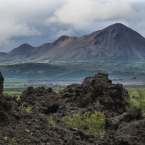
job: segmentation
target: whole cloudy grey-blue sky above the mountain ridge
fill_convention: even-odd
[[[145,0],[0,0],[0,52],[122,23],[145,37]]]

